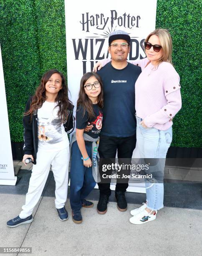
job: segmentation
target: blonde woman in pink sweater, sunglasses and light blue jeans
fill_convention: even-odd
[[[172,119],[182,106],[179,75],[172,66],[172,38],[166,29],[156,29],[144,42],[146,58],[129,61],[141,67],[135,84],[136,138],[142,161],[153,162],[152,179],[146,181],[146,203],[131,210],[130,222],[143,224],[156,219],[164,207],[164,165],[172,142]],[[100,69],[110,59],[95,66]],[[154,159],[156,159],[154,161]],[[153,161],[151,161],[153,160]]]

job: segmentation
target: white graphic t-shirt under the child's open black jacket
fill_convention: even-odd
[[[69,144],[63,123],[58,118],[56,105],[57,102],[45,101],[38,109],[38,148],[45,151],[59,151]]]

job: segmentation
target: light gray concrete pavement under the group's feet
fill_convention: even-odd
[[[31,168],[31,164],[26,166],[28,170]],[[82,208],[83,223],[75,224],[69,199],[66,202],[69,219],[60,221],[52,195],[40,198],[33,212],[33,223],[7,227],[6,222],[20,213],[24,202],[25,195],[0,194],[1,247],[32,247],[32,254],[28,255],[34,256],[202,255],[201,210],[164,207],[156,220],[133,225],[129,222],[130,210],[140,205],[128,204],[128,210],[120,212],[116,202],[109,202],[106,214],[99,215],[97,201],[93,201],[93,208]]]

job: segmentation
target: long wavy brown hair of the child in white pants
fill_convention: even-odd
[[[68,99],[68,87],[66,83],[66,79],[64,75],[59,72],[57,69],[51,69],[43,74],[41,78],[40,85],[36,88],[35,95],[32,98],[32,102],[30,104],[30,109],[24,113],[24,115],[30,115],[32,117],[33,112],[38,108],[41,108],[43,102],[46,100],[45,96],[45,84],[48,82],[48,79],[52,76],[52,74],[58,73],[62,78],[62,89],[59,90],[58,95],[56,97],[56,102],[58,102],[58,117],[61,116],[61,122],[67,120],[66,109],[71,106],[71,101]],[[56,106],[56,107],[57,107]]]

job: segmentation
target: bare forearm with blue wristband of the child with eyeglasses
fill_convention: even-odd
[[[83,156],[83,159],[88,158],[88,153],[86,151],[86,146],[85,146],[85,141],[83,138],[83,131],[84,129],[76,129],[76,141],[78,143],[78,148],[81,151],[81,154]],[[91,167],[92,166],[92,161],[90,158],[88,158],[88,160],[83,160],[83,165],[86,167]]]

